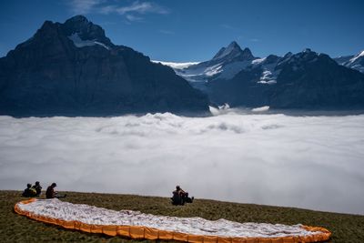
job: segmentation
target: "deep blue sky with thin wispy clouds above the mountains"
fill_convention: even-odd
[[[305,47],[329,56],[364,50],[361,0],[13,0],[0,1],[0,56],[45,20],[80,14],[114,44],[162,61],[204,61],[233,40],[254,56]]]

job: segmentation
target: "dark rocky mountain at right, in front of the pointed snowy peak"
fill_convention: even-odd
[[[268,82],[265,81],[267,70],[275,74]],[[364,75],[309,49],[296,55],[268,56],[232,79],[216,80],[208,85],[213,102],[230,106],[364,107]]]

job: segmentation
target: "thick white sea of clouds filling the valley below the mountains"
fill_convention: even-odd
[[[0,189],[35,180],[364,214],[364,115],[0,116]]]

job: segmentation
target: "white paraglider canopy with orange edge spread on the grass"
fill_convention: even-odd
[[[15,204],[15,212],[49,224],[108,236],[175,239],[194,243],[319,242],[330,238],[326,228],[303,225],[238,223],[226,219],[156,216],[115,211],[54,199],[29,199]]]

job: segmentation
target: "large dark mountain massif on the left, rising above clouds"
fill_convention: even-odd
[[[208,111],[208,99],[167,66],[116,46],[77,15],[45,21],[29,40],[0,58],[0,114],[116,116]]]

